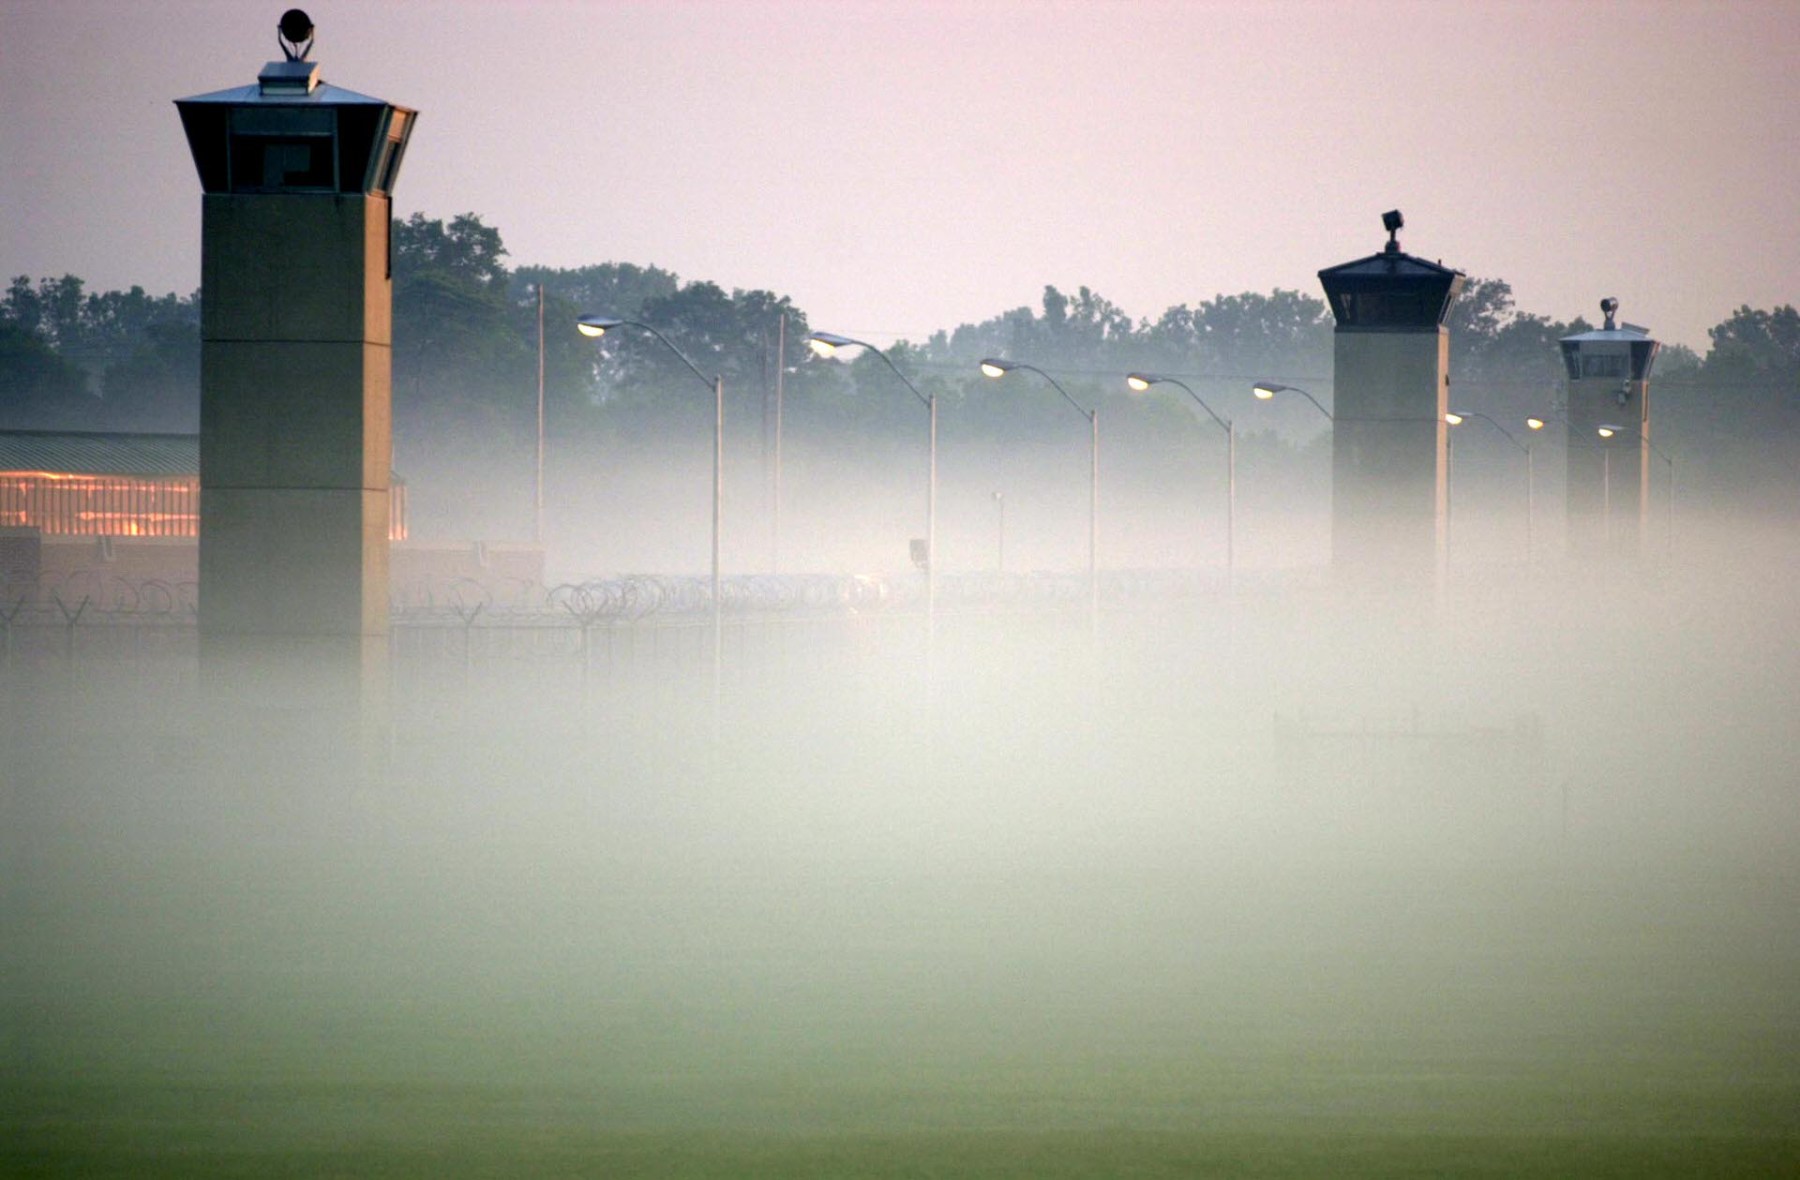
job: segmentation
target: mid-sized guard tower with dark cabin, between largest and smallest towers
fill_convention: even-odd
[[[1444,554],[1449,331],[1465,275],[1388,245],[1319,272],[1337,320],[1332,389],[1332,563],[1354,576],[1429,583]]]

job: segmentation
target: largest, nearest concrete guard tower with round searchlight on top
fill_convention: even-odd
[[[365,669],[387,642],[389,194],[416,112],[308,61],[175,103],[200,171],[202,658]],[[342,682],[338,682],[342,684]]]

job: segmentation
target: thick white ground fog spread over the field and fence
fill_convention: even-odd
[[[245,705],[274,671],[243,694],[180,642],[16,633],[0,1162],[1791,1164],[1791,522],[1696,511],[1672,558],[1582,567],[1546,504],[1526,565],[1496,505],[1404,597],[1334,581],[1318,505],[1251,468],[1228,588],[1199,471],[1103,498],[1103,563],[1184,590],[1093,628],[1078,588],[956,599],[997,486],[1008,568],[1080,585],[1084,450],[945,462],[929,653],[916,601],[727,617],[716,720],[704,613],[585,669],[567,626],[401,621],[360,720]],[[794,568],[904,579],[914,459],[797,457]],[[571,577],[704,568],[704,484],[668,518],[650,473],[589,487]]]

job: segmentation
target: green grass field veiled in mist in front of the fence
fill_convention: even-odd
[[[1800,1175],[1791,664],[1714,642],[1593,741],[1570,702],[1667,651],[1499,694],[1438,649],[1548,768],[1420,791],[1283,779],[1316,651],[1172,648],[986,653],[931,741],[913,682],[796,660],[716,752],[670,698],[414,680],[376,773],[14,671],[0,1175]]]

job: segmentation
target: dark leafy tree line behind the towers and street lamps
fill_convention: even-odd
[[[637,442],[682,432],[711,414],[693,374],[644,333],[599,342],[576,333],[583,311],[662,331],[706,374],[725,380],[734,430],[767,428],[779,380],[792,437],[864,444],[916,434],[916,408],[877,358],[821,360],[805,347],[806,313],[767,290],[682,281],[657,266],[508,266],[500,230],[475,214],[394,221],[396,439],[437,432],[524,437],[535,432],[538,291],[549,430],[558,437]],[[783,333],[785,320],[785,333]],[[1562,383],[1557,338],[1591,327],[1514,304],[1501,279],[1471,279],[1449,318],[1453,401],[1499,421],[1553,407]],[[1291,290],[1217,295],[1132,318],[1082,286],[1046,286],[979,324],[902,342],[889,358],[934,392],[958,430],[1019,441],[1062,434],[1040,381],[985,381],[983,356],[1049,369],[1112,439],[1204,434],[1183,396],[1132,396],[1121,374],[1179,376],[1231,416],[1253,380],[1319,390],[1328,405],[1332,320],[1323,300]],[[198,428],[200,293],[142,288],[88,291],[76,275],[11,281],[0,300],[0,408],[11,428]],[[1667,345],[1652,380],[1654,421],[1712,468],[1769,477],[1795,469],[1800,441],[1800,313],[1739,308],[1710,329],[1705,356]],[[1258,425],[1305,437],[1310,408],[1258,414]],[[1314,416],[1316,417],[1316,416]],[[1309,430],[1309,426],[1312,430]]]

